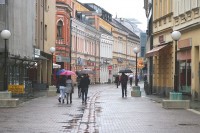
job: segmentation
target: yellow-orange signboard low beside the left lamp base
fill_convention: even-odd
[[[24,94],[24,85],[8,85],[8,91],[11,91],[13,94]]]

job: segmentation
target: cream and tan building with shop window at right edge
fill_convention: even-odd
[[[178,41],[179,90],[200,100],[200,0],[173,1],[174,27]]]

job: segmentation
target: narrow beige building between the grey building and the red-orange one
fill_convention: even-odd
[[[55,47],[55,0],[36,1],[36,31],[35,31],[35,58],[36,69],[31,70],[32,81],[35,87],[44,87],[51,84],[52,55],[50,47]]]

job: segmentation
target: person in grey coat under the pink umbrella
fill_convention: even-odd
[[[67,99],[67,104],[69,103],[69,99],[70,99],[70,104],[72,104],[72,93],[74,93],[74,84],[73,81],[71,79],[71,76],[67,76],[67,80],[66,80],[66,99]]]

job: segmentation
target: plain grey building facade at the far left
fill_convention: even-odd
[[[25,85],[26,80],[28,80],[27,71],[35,59],[35,35],[33,34],[35,32],[35,1],[5,0],[1,3],[0,10],[0,31],[7,29],[11,32],[11,37],[6,43],[7,46],[0,46],[0,67],[4,70],[5,67],[7,68],[6,72],[0,72],[0,88],[3,90],[2,88],[5,88],[5,86],[3,87],[5,74],[8,77],[8,88],[9,85]],[[1,44],[4,44],[2,38],[0,38],[0,41]],[[7,48],[7,57],[4,52],[5,48]],[[7,60],[7,64],[3,62],[5,59]]]

